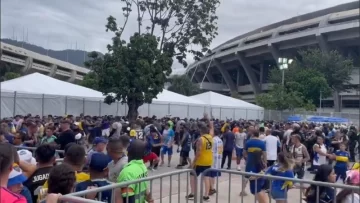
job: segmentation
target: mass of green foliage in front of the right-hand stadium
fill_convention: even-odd
[[[256,98],[259,105],[277,110],[313,109],[333,90],[344,91],[351,79],[352,60],[337,51],[325,53],[319,49],[299,51],[299,57],[285,70],[285,86],[278,68],[270,71],[269,81],[275,84],[268,93]]]

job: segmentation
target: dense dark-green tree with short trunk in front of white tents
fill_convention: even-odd
[[[113,39],[109,53],[99,57],[92,52],[86,66],[96,74],[98,89],[106,96],[105,103],[116,100],[127,103],[128,117],[134,121],[137,109],[151,103],[164,87],[171,73],[172,59],[158,49],[155,36],[135,33],[128,43]]]

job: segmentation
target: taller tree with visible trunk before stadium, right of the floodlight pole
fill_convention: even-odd
[[[300,51],[299,68],[315,69],[324,75],[333,90],[334,106],[340,111],[339,93],[349,89],[354,69],[352,59],[342,56],[338,51],[322,52],[319,49]]]

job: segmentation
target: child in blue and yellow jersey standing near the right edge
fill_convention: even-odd
[[[336,181],[338,181],[339,178],[341,178],[344,183],[346,179],[346,171],[348,169],[349,157],[350,157],[350,154],[345,150],[346,150],[346,145],[344,143],[341,143],[340,149],[334,153],[334,158],[336,160],[334,166],[334,170],[336,173]]]

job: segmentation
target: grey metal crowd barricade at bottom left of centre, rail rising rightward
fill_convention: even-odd
[[[173,172],[163,173],[160,175],[149,176],[146,178],[141,178],[134,181],[127,181],[123,183],[114,183],[108,186],[99,187],[95,189],[85,190],[81,192],[75,192],[68,195],[60,197],[61,201],[77,202],[77,203],[100,203],[101,202],[101,192],[103,191],[112,191],[112,200],[115,202],[115,191],[116,189],[128,187],[129,185],[139,184],[142,182],[148,182],[148,190],[152,195],[152,198],[157,203],[180,203],[180,202],[192,202],[193,200],[185,199],[185,196],[190,193],[190,175],[196,175],[195,171],[192,169],[176,170]],[[185,176],[184,176],[185,175]],[[176,178],[174,178],[174,176]],[[177,182],[177,183],[176,183]],[[173,187],[177,190],[173,190]],[[185,187],[185,190],[182,188]],[[195,183],[195,194],[197,194],[197,183]],[[168,192],[164,192],[167,190]],[[89,200],[85,199],[85,195],[97,193],[98,200]],[[166,193],[164,195],[164,193]],[[198,196],[195,195],[194,202],[197,201]]]

